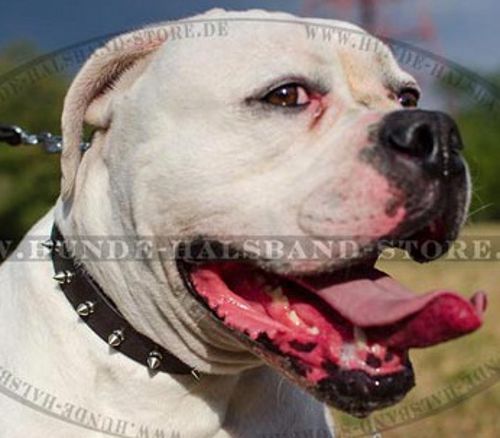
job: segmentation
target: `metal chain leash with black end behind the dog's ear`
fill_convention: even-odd
[[[50,132],[30,134],[16,125],[0,125],[0,142],[10,146],[41,146],[48,154],[59,154],[62,151],[62,137]],[[82,142],[80,149],[85,152],[90,143]]]

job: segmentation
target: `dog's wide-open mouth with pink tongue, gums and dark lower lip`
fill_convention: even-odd
[[[414,386],[410,348],[476,330],[486,297],[416,295],[374,260],[307,276],[249,261],[178,260],[187,288],[240,341],[318,399],[366,416]]]

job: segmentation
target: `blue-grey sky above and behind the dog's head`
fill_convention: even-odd
[[[380,2],[380,0],[379,0]],[[435,41],[414,41],[478,73],[500,70],[500,2],[498,0],[384,0],[384,21],[408,30],[423,10],[437,29]],[[303,14],[300,0],[3,0],[0,47],[18,39],[37,43],[43,52],[92,37],[172,20],[212,7],[265,8]],[[336,18],[339,10],[318,8],[314,15]],[[357,17],[351,17],[354,21]],[[406,36],[397,36],[407,40]]]

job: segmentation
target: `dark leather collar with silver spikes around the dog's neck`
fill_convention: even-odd
[[[76,313],[111,348],[149,368],[151,372],[198,373],[172,353],[135,330],[85,268],[69,254],[56,225],[44,244],[51,250],[56,280]]]

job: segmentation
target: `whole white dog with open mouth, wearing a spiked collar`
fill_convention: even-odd
[[[363,416],[400,400],[408,349],[476,329],[484,307],[373,267],[381,239],[439,255],[422,243],[446,249],[466,215],[457,128],[418,97],[361,29],[284,13],[213,10],[97,50],[65,101],[61,197],[20,247],[55,221],[66,248],[53,234],[42,261],[0,270],[0,436],[319,437],[323,402]],[[184,252],[61,256],[89,236]],[[193,255],[207,244],[217,260]],[[72,301],[89,284],[107,305]],[[124,326],[102,333],[113,308]],[[187,371],[153,372],[173,363]]]

